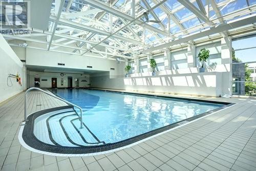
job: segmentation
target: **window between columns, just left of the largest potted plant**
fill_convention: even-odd
[[[187,50],[171,52],[170,55],[173,70],[187,68]]]

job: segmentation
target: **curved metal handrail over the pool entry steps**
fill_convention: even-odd
[[[39,88],[35,88],[35,87],[33,87],[33,88],[29,88],[26,92],[25,92],[25,112],[24,112],[24,121],[26,122],[26,121],[28,121],[28,115],[27,115],[27,103],[28,103],[28,100],[27,100],[27,98],[28,98],[28,92],[30,92],[31,90],[39,90],[39,91],[41,91],[41,92],[43,92],[43,93],[45,93],[45,94],[48,94],[49,96],[52,96],[52,97],[55,97],[56,99],[58,99],[58,100],[61,100],[61,101],[63,101],[63,102],[66,102],[66,103],[68,103],[68,104],[70,104],[70,105],[73,105],[73,106],[75,106],[76,108],[78,108],[79,110],[80,110],[80,129],[82,129],[82,109],[79,107],[79,106],[77,106],[77,105],[75,105],[75,104],[73,104],[73,103],[71,103],[71,102],[69,102],[69,101],[67,101],[67,100],[64,100],[64,99],[62,99],[62,98],[59,98],[59,97],[57,97],[57,96],[55,96],[55,95],[52,95],[52,94],[50,94],[50,93],[48,93],[47,91],[44,91],[44,90],[42,90],[42,89],[39,89]]]

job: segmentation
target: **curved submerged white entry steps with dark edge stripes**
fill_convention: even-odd
[[[91,146],[100,145],[97,137],[80,120],[76,111],[59,110],[39,116],[34,121],[34,135],[42,142],[57,146]]]

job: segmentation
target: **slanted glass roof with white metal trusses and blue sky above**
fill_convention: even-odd
[[[104,58],[130,58],[256,13],[256,0],[65,0],[62,5],[60,9],[61,1],[53,0],[50,50],[64,47]]]

